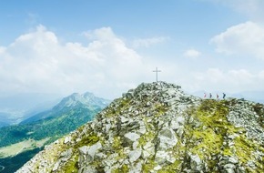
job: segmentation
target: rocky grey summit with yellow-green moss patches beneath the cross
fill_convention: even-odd
[[[264,106],[141,84],[17,172],[264,172]]]

